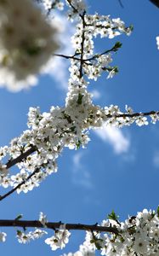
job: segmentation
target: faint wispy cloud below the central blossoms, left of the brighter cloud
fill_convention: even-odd
[[[90,172],[82,163],[84,153],[79,152],[73,156],[72,183],[80,185],[85,189],[92,189],[93,183]]]

